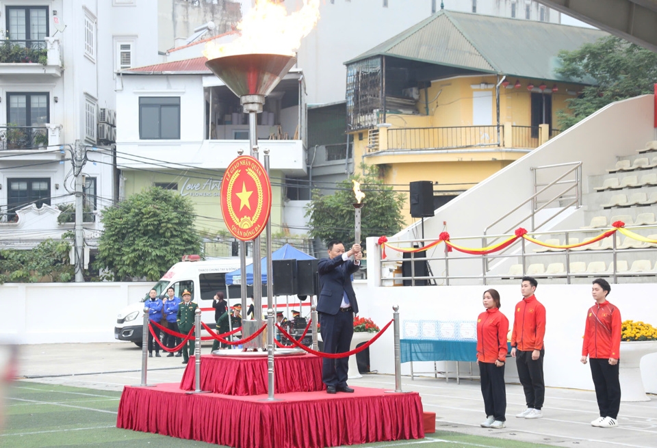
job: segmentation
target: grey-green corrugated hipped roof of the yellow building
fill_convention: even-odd
[[[509,76],[563,81],[561,50],[608,36],[604,31],[517,18],[441,11],[346,62],[389,55]]]

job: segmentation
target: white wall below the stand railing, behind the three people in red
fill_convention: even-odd
[[[359,316],[370,317],[381,328],[393,317],[392,306],[400,306],[400,321],[470,320],[484,311],[481,297],[486,289],[500,293],[500,311],[513,326],[513,307],[521,300],[519,285],[457,287],[367,287],[355,282]],[[609,301],[619,307],[623,320],[642,320],[657,326],[656,284],[612,285]],[[591,370],[580,363],[584,321],[593,305],[591,285],[541,285],[537,299],[545,305],[545,385],[550,387],[593,389]],[[621,358],[621,363],[623,359]],[[370,368],[379,373],[394,373],[392,326],[370,346]],[[413,363],[415,371],[433,371],[433,363]],[[657,354],[641,361],[646,392],[657,393]],[[402,374],[410,375],[410,363],[402,364]],[[508,375],[507,375],[508,377]]]

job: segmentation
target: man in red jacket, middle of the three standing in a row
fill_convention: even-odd
[[[518,378],[525,392],[527,409],[516,414],[519,419],[540,419],[545,401],[543,380],[543,337],[545,337],[545,306],[534,296],[539,283],[533,277],[523,277],[520,292],[523,300],[515,306],[511,356],[518,367]]]

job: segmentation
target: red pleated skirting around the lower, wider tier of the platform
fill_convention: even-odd
[[[320,448],[424,438],[413,393],[355,387],[325,392],[229,397],[190,394],[178,384],[125,386],[116,427],[235,448]]]

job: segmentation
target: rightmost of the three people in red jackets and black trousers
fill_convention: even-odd
[[[595,305],[589,308],[582,344],[582,364],[587,363],[589,356],[597,407],[600,408],[600,417],[591,422],[591,425],[597,427],[617,426],[616,418],[621,406],[618,360],[622,319],[619,309],[607,302],[610,292],[611,287],[606,280],[593,280],[591,293]]]

